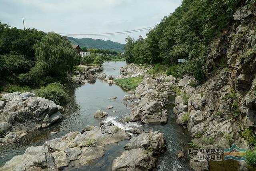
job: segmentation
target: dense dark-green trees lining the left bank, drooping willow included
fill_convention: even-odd
[[[65,78],[78,63],[67,38],[0,22],[0,83],[47,85]]]

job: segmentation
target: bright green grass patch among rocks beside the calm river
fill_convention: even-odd
[[[118,78],[114,80],[115,84],[120,85],[124,89],[134,91],[136,87],[142,82],[143,76],[131,78]]]

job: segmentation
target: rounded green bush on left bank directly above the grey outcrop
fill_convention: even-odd
[[[36,96],[50,99],[57,104],[64,104],[68,99],[68,91],[60,83],[52,83],[36,90]]]

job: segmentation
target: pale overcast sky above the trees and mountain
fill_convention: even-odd
[[[0,21],[44,32],[99,34],[155,26],[182,0],[0,0]],[[135,39],[147,31],[130,33]],[[125,43],[127,34],[94,36]],[[70,36],[71,37],[71,36]],[[74,36],[73,36],[74,37]],[[85,38],[85,37],[76,37]]]

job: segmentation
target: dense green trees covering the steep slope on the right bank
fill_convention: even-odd
[[[170,66],[170,74],[189,73],[198,80],[205,78],[209,44],[228,29],[240,3],[239,0],[183,0],[180,7],[149,30],[146,38],[135,41],[126,37],[126,62],[161,63]],[[177,65],[178,58],[188,62]]]

